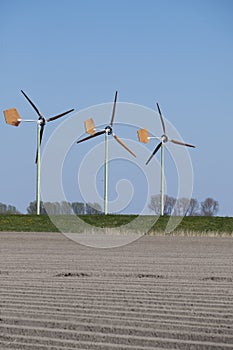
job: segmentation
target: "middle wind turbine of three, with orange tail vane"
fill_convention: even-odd
[[[103,130],[96,131],[95,124],[93,119],[86,120],[85,123],[85,129],[90,136],[85,137],[82,140],[77,141],[77,143],[90,140],[94,137],[100,136],[105,134],[105,163],[104,163],[104,214],[108,214],[108,139],[109,135],[112,135],[114,139],[122,146],[124,147],[129,153],[131,153],[134,157],[136,157],[136,154],[129,149],[126,144],[121,141],[121,139],[113,132],[113,123],[114,123],[114,117],[116,112],[116,102],[117,102],[117,91],[115,93],[114,103],[113,103],[113,109],[112,109],[112,116],[110,120],[110,124],[107,125]]]

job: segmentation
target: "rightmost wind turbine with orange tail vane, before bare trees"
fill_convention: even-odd
[[[161,190],[160,190],[160,194],[161,194],[161,200],[160,200],[160,204],[161,204],[161,215],[164,215],[164,145],[167,142],[172,142],[175,143],[177,145],[181,145],[181,146],[186,146],[186,147],[193,147],[195,148],[195,146],[190,145],[189,143],[184,143],[181,141],[177,141],[174,139],[169,139],[169,137],[166,134],[166,128],[165,128],[165,123],[163,120],[163,116],[161,113],[161,110],[159,108],[159,104],[157,104],[157,108],[158,108],[158,112],[159,112],[159,116],[160,116],[160,120],[161,120],[161,124],[162,124],[162,129],[163,129],[163,134],[160,137],[150,137],[149,136],[149,132],[147,129],[141,129],[138,130],[138,138],[140,142],[144,142],[144,143],[148,143],[150,139],[157,139],[160,140],[160,143],[155,147],[154,151],[152,152],[151,156],[149,157],[149,159],[146,162],[146,165],[151,161],[151,159],[154,157],[154,155],[159,151],[159,149],[161,148]]]

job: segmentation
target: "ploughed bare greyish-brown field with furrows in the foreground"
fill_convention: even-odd
[[[233,349],[233,239],[1,232],[0,349]]]

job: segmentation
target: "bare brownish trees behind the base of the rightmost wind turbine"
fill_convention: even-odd
[[[154,214],[159,215],[161,212],[160,194],[151,196],[149,209]],[[213,198],[206,198],[201,203],[195,198],[178,198],[164,196],[164,215],[174,216],[214,216],[219,211],[219,204]]]

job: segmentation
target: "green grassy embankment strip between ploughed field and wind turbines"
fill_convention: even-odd
[[[82,232],[82,222],[92,227],[120,227],[129,222],[134,222],[135,215],[83,215],[77,224],[75,216],[56,217],[59,221],[59,228],[64,232]],[[135,231],[143,231],[148,220],[152,216],[140,217],[135,225]],[[160,217],[150,229],[150,234],[164,233],[169,217]],[[0,215],[0,231],[26,231],[26,232],[59,232],[59,229],[51,222],[46,215]],[[193,216],[184,217],[178,227],[176,234],[224,234],[233,236],[233,217],[205,217]]]

